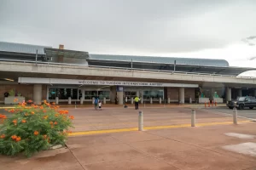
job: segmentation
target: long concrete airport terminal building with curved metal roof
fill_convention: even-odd
[[[230,67],[224,59],[90,54],[84,51],[0,42],[0,103],[16,95],[40,103],[123,105],[218,103],[255,96],[256,79],[239,77],[253,68]],[[9,95],[8,95],[9,94]],[[7,97],[8,96],[8,97]]]

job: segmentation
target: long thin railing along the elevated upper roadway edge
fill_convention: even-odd
[[[44,64],[44,65],[73,65],[73,66],[86,66],[91,68],[105,68],[105,69],[116,69],[116,70],[126,70],[126,71],[154,71],[154,72],[166,72],[171,74],[189,74],[189,75],[202,75],[211,77],[235,77],[235,78],[245,78],[245,79],[256,79],[256,77],[241,77],[233,75],[222,75],[222,74],[209,74],[203,72],[185,72],[185,71],[164,71],[164,70],[150,70],[150,69],[140,69],[140,68],[128,68],[128,67],[114,67],[114,66],[102,66],[102,65],[79,65],[79,64],[69,64],[69,63],[55,63],[55,62],[45,62],[45,61],[33,61],[33,60],[18,60],[18,59],[0,59],[0,61],[11,61],[19,63],[34,63],[34,64]]]

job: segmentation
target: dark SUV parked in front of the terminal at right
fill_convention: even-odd
[[[240,110],[243,110],[245,107],[253,109],[253,107],[256,107],[256,99],[252,96],[238,97],[237,99],[227,102],[227,106],[230,109],[233,109],[234,107]]]

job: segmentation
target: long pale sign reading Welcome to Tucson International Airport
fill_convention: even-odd
[[[61,78],[36,78],[19,77],[19,83],[41,83],[41,84],[78,84],[96,86],[147,86],[147,87],[176,87],[176,88],[198,88],[198,84],[164,83],[164,82],[125,82],[125,81],[103,81],[103,80],[76,80]]]

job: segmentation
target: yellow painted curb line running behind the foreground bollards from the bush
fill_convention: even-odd
[[[251,122],[251,121],[241,121],[242,122]],[[212,125],[229,125],[233,122],[208,122],[208,123],[197,123],[196,127],[206,127]],[[191,124],[181,124],[181,125],[170,125],[170,126],[157,126],[157,127],[144,127],[145,130],[153,129],[165,129],[165,128],[178,128],[178,127],[191,127]],[[79,136],[79,135],[90,135],[90,134],[102,134],[102,133],[121,133],[121,132],[131,132],[137,131],[137,127],[132,128],[120,128],[120,129],[108,129],[108,130],[95,130],[95,131],[84,131],[84,132],[75,132],[69,133],[68,136]]]

